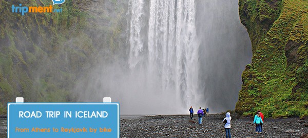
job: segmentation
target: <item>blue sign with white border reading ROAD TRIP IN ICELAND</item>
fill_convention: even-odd
[[[8,138],[120,137],[119,103],[8,103]]]

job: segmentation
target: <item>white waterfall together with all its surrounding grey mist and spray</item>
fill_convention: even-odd
[[[127,10],[123,58],[101,59],[76,86],[80,101],[111,97],[121,114],[234,109],[251,43],[236,1],[137,1]]]

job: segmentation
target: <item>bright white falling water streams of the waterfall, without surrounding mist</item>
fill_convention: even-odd
[[[196,105],[202,96],[196,96],[200,91],[195,2],[156,0],[148,8],[144,1],[129,4],[130,70],[143,70],[149,85],[159,83],[162,91],[153,93],[174,95],[177,99],[171,101],[185,107]]]

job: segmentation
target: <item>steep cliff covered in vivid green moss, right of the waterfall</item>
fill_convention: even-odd
[[[240,0],[253,59],[242,74],[236,112],[308,115],[308,1]]]

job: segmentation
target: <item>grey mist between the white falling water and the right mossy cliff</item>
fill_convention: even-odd
[[[242,71],[252,58],[251,41],[239,19],[238,1],[204,1],[197,5],[196,16],[204,105],[212,112],[233,110]]]

